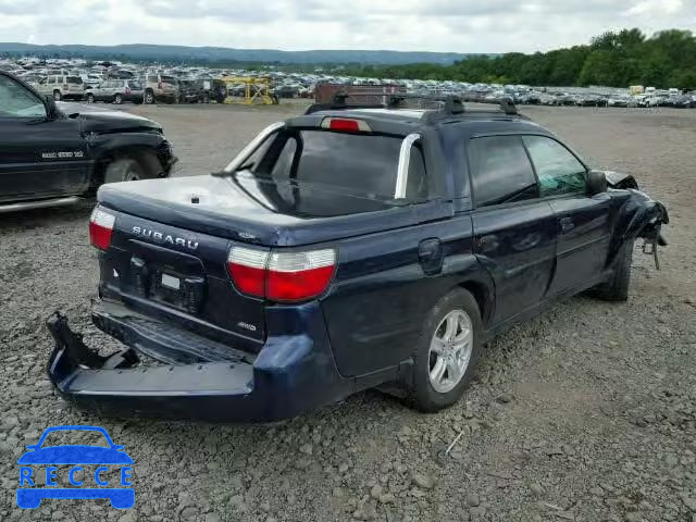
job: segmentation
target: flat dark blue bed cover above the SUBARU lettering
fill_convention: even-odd
[[[385,232],[432,221],[442,213],[436,203],[403,206],[319,185],[260,181],[244,173],[104,185],[98,199],[136,217],[268,247]]]

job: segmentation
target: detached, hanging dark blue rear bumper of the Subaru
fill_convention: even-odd
[[[101,357],[55,313],[47,323],[55,340],[48,374],[64,398],[99,414],[212,422],[288,419],[355,390],[353,381],[338,374],[319,307],[306,308],[307,332],[269,335],[253,361],[234,351],[222,360],[207,346],[190,346],[195,338],[184,331],[167,335],[148,325],[138,327],[137,321],[97,308],[95,323],[129,346]],[[145,366],[139,361],[139,351],[171,355],[183,343],[202,350],[201,362]]]

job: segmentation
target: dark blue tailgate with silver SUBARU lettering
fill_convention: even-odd
[[[116,219],[100,254],[103,298],[219,343],[261,349],[263,300],[239,294],[226,270],[235,241],[110,212]]]

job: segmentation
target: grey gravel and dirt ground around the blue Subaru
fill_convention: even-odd
[[[127,110],[164,125],[183,175],[222,167],[294,108]],[[465,398],[436,415],[378,393],[276,426],[82,413],[47,381],[42,322],[60,309],[103,339],[87,320],[90,206],[2,216],[0,520],[696,521],[696,111],[525,112],[595,164],[635,174],[670,210],[670,246],[661,272],[636,251],[627,303],[577,297],[498,338]],[[57,424],[102,425],[125,445],[133,510],[15,507],[16,458]]]

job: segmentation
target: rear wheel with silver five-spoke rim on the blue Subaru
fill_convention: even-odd
[[[455,344],[449,345],[452,340],[447,341],[448,338],[455,339]],[[474,297],[464,289],[456,289],[440,299],[428,313],[413,353],[409,406],[432,413],[456,403],[473,377],[482,345],[483,324]],[[451,378],[455,368],[458,375]]]

